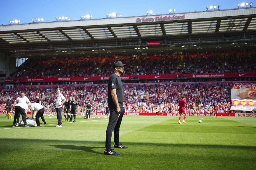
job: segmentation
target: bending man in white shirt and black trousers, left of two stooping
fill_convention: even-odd
[[[24,122],[24,128],[30,128],[30,126],[27,125],[27,111],[29,110],[29,106],[27,103],[18,103],[15,105],[14,107],[15,112],[14,112],[14,119],[13,119],[13,126],[15,127],[15,123],[16,123],[16,119],[18,117],[18,115],[22,116],[23,122]]]

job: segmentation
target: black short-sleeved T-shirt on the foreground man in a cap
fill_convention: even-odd
[[[108,94],[108,107],[111,109],[116,109],[116,105],[113,101],[111,95],[111,89],[116,89],[117,101],[119,103],[120,108],[123,108],[124,103],[124,86],[119,76],[113,73],[109,79],[107,84],[107,94]]]

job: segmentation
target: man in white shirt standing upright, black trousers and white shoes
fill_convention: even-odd
[[[61,117],[61,111],[62,111],[62,104],[66,102],[66,98],[63,96],[63,94],[60,93],[60,88],[56,89],[56,113],[57,113],[57,119],[58,119],[58,125],[55,127],[62,128],[62,117]],[[62,102],[63,100],[63,102]]]

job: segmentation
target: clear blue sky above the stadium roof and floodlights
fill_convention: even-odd
[[[153,14],[168,14],[169,9],[176,9],[176,13],[206,10],[206,6],[221,5],[220,9],[237,8],[236,4],[250,3],[256,6],[256,0],[211,0],[211,1],[22,1],[5,0],[1,2],[0,25],[10,24],[9,20],[21,20],[21,24],[31,22],[31,19],[44,18],[44,22],[55,21],[55,17],[67,16],[70,20],[79,20],[81,15],[93,15],[93,19],[105,18],[106,13],[118,13],[122,17],[143,16],[146,11],[152,10]]]

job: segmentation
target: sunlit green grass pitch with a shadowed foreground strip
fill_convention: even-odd
[[[124,116],[121,156],[103,154],[108,119],[45,118],[12,128],[0,115],[0,169],[256,169],[256,118]]]

